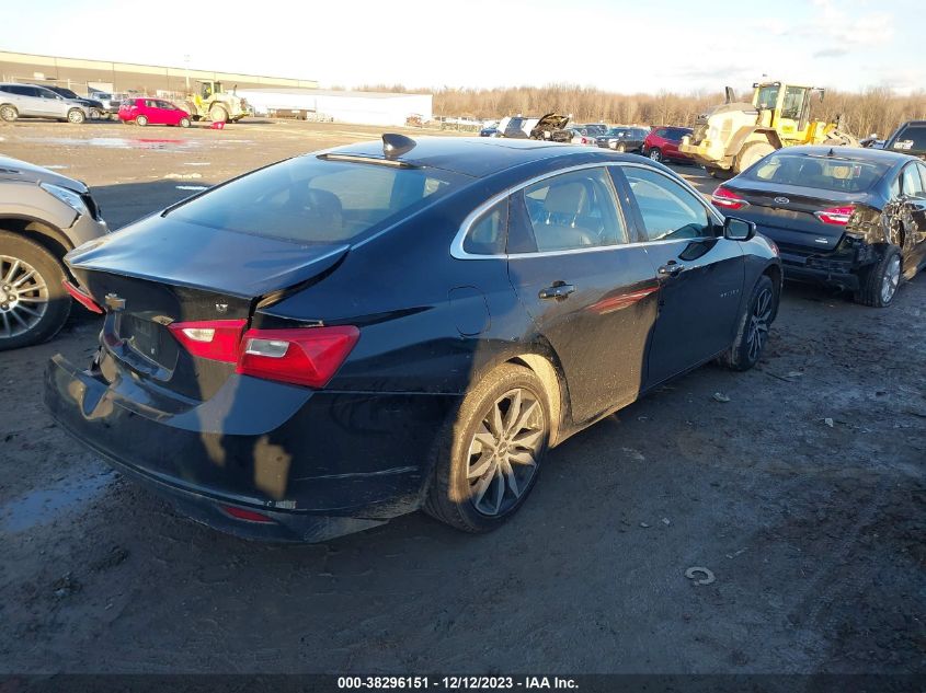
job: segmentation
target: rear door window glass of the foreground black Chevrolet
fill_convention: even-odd
[[[538,252],[627,242],[624,220],[604,169],[583,169],[545,178],[518,195],[524,201],[527,224]],[[522,247],[518,244],[518,250]],[[508,252],[512,252],[511,247]]]

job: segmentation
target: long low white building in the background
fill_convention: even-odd
[[[404,125],[409,116],[432,118],[431,94],[347,92],[325,89],[239,89],[256,115],[299,115],[362,125]]]

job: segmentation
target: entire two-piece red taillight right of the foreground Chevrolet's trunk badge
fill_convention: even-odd
[[[244,320],[210,320],[169,326],[187,351],[199,358],[237,363],[244,376],[309,388],[324,388],[359,339],[352,325],[249,330]]]

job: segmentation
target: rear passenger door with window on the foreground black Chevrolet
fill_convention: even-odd
[[[565,374],[572,417],[632,402],[658,284],[605,166],[546,177],[510,200],[508,277]]]

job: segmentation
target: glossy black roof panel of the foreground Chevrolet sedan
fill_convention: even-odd
[[[483,177],[506,169],[546,159],[568,159],[590,155],[602,161],[621,159],[620,154],[590,147],[559,142],[544,142],[530,139],[500,139],[489,137],[422,137],[414,140],[415,147],[408,153],[396,157],[416,166],[454,171],[472,177]],[[347,154],[384,160],[382,142],[368,141],[325,150],[328,154]]]

